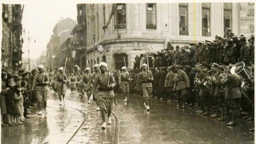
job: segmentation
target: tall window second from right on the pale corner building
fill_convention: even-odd
[[[202,3],[202,35],[211,36],[210,32],[210,3]]]

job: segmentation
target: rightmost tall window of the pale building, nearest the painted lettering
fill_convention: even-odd
[[[224,3],[224,32],[226,28],[231,28],[232,3]]]

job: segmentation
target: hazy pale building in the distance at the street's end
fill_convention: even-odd
[[[66,18],[61,20],[53,28],[53,34],[51,35],[50,41],[47,44],[47,55],[49,55],[49,62],[47,67],[50,71],[56,71],[59,67],[65,65],[67,53],[63,50],[63,45],[70,36],[73,28],[76,27],[76,21]],[[66,48],[66,47],[65,47]]]

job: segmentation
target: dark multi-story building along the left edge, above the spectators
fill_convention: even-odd
[[[21,19],[23,9],[24,5],[21,6],[21,4],[2,4],[2,66],[13,70],[17,70],[22,66],[23,39],[21,38]]]

